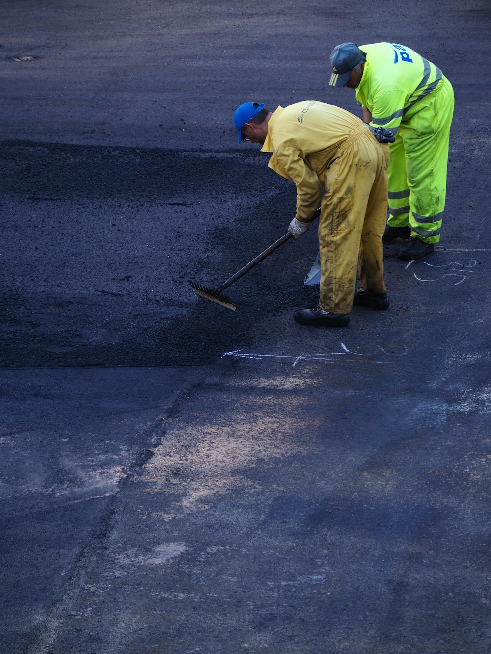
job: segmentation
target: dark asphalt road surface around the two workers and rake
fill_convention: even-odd
[[[490,654],[487,2],[4,1],[5,653]],[[454,86],[443,236],[301,328],[312,229],[236,145],[342,41]]]

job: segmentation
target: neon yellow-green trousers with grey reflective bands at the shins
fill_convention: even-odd
[[[454,91],[446,77],[418,100],[417,107],[409,122],[401,123],[395,142],[390,144],[387,223],[391,227],[409,225],[411,236],[438,243],[454,113]]]

